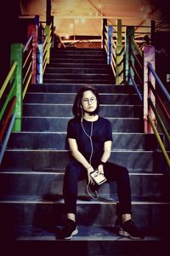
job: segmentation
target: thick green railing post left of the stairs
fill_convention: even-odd
[[[11,66],[14,61],[17,61],[17,67],[14,83],[15,83],[15,96],[17,97],[17,101],[15,104],[14,112],[16,113],[16,119],[14,122],[14,131],[21,131],[21,123],[22,123],[22,65],[23,65],[23,48],[22,44],[11,44],[11,55],[10,62]]]

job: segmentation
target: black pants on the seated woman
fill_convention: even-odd
[[[120,214],[131,214],[131,188],[127,168],[107,162],[104,166],[104,173],[107,182],[115,181],[117,184]],[[66,213],[76,214],[78,181],[87,178],[87,170],[77,160],[71,161],[66,167],[63,186]]]

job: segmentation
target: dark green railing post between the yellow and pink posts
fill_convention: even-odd
[[[134,57],[133,57],[133,44],[132,39],[134,38],[134,27],[127,26],[126,28],[126,48],[125,48],[125,83],[132,84],[129,80],[130,76],[134,77],[133,68],[131,67],[134,65]]]

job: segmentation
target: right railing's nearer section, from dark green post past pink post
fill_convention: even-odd
[[[162,154],[167,160],[167,166],[170,167],[170,158],[167,154],[170,137],[166,127],[170,125],[170,117],[164,104],[166,101],[170,106],[170,96],[156,73],[155,47],[146,44],[142,50],[139,49],[138,44],[134,42],[133,27],[130,27],[127,41],[129,44],[126,53],[128,55],[126,60],[127,84],[134,86],[144,106],[144,132],[155,133]],[[160,133],[163,134],[163,139]]]

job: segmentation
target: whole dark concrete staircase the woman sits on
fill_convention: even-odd
[[[102,49],[53,49],[51,54],[44,83],[32,84],[26,94],[23,130],[10,137],[0,167],[0,238],[6,255],[11,247],[18,255],[68,255],[70,249],[73,255],[145,256],[153,250],[164,255],[170,228],[169,177],[156,138],[144,134],[142,106],[133,87],[114,84]],[[99,89],[99,114],[113,127],[111,161],[127,166],[133,220],[144,231],[144,241],[114,233],[116,184],[103,184],[99,201],[94,201],[84,181],[79,182],[77,201],[79,233],[71,241],[55,240],[63,224],[66,127],[83,84]]]

